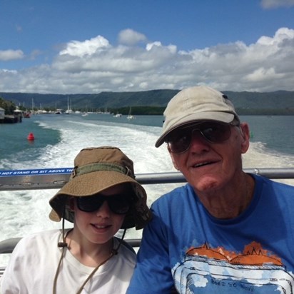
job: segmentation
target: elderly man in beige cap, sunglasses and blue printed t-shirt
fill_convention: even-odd
[[[188,183],[152,205],[131,293],[293,293],[294,187],[243,172],[249,127],[227,96],[186,88],[164,112]]]

